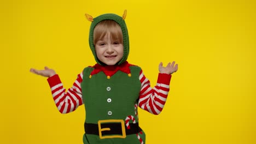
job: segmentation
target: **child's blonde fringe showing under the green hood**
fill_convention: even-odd
[[[119,24],[112,20],[104,20],[99,22],[94,28],[94,45],[98,40],[103,39],[108,32],[112,41],[117,40],[123,44],[123,33]]]

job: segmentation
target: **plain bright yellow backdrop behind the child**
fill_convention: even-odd
[[[254,1],[0,1],[0,143],[82,143],[84,106],[62,115],[45,65],[66,88],[94,65],[90,22],[123,15],[130,36],[128,61],[155,85],[158,64],[176,61],[164,110],[139,110],[147,143],[256,143]]]

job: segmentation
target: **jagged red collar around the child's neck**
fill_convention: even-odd
[[[120,64],[120,65],[100,65],[100,64],[95,64],[92,68],[94,70],[91,71],[91,75],[95,75],[99,73],[100,71],[103,71],[103,73],[107,76],[108,79],[115,73],[117,73],[118,70],[123,71],[124,73],[128,74],[128,76],[131,76],[131,71],[130,71],[130,66],[132,64],[129,64],[127,61]]]

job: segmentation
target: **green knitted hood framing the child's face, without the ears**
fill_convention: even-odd
[[[90,44],[91,51],[94,54],[95,60],[98,64],[106,65],[106,64],[102,63],[97,58],[95,47],[94,47],[94,28],[99,22],[101,22],[103,20],[113,20],[113,21],[117,22],[120,25],[121,30],[123,32],[124,55],[123,55],[123,58],[121,59],[121,61],[119,61],[117,63],[117,65],[120,65],[126,61],[126,59],[128,58],[128,55],[129,55],[129,35],[128,35],[125,21],[123,20],[123,17],[121,17],[119,15],[103,14],[103,15],[100,15],[100,16],[94,18],[94,21],[91,22],[90,33],[89,33],[89,44]]]

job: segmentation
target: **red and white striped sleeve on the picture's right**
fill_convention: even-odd
[[[171,75],[158,75],[158,82],[154,88],[150,87],[149,80],[144,76],[142,70],[139,73],[141,81],[141,92],[139,93],[138,105],[154,115],[159,115],[165,105],[165,101],[170,89]]]

